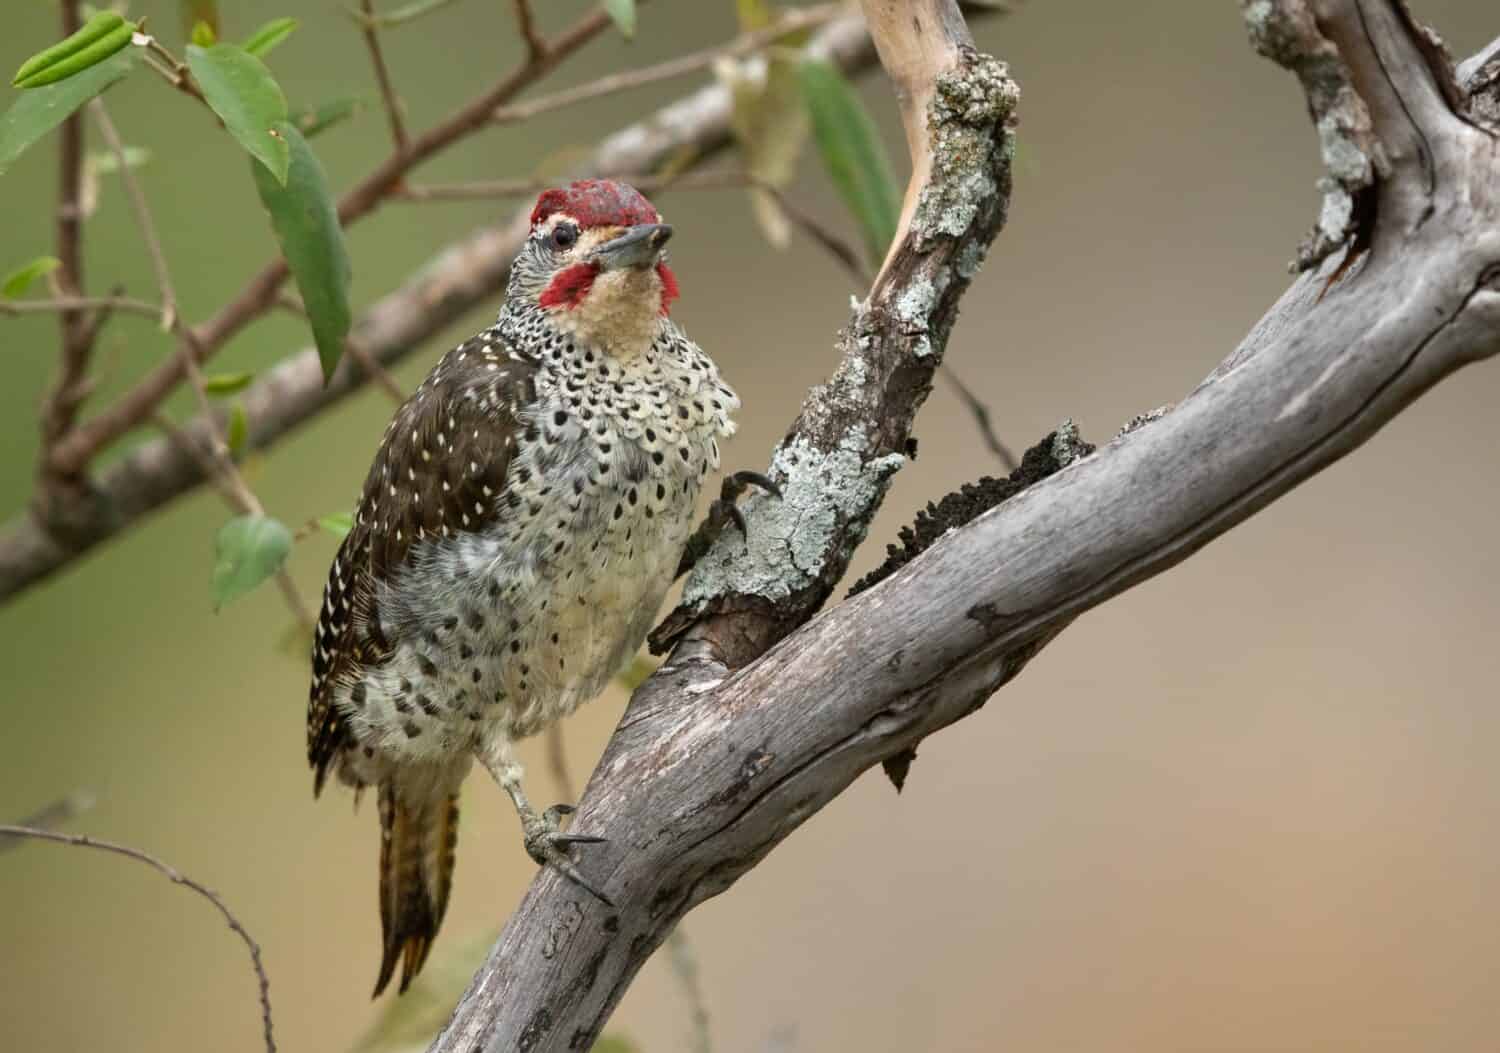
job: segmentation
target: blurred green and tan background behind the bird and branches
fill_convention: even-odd
[[[584,4],[537,4],[544,27]],[[1420,0],[1466,56],[1500,32],[1490,0]],[[284,14],[272,57],[292,102],[375,98],[333,3],[232,3],[231,38]],[[180,44],[177,4],[138,3]],[[54,39],[56,6],[4,4],[0,69]],[[633,44],[609,38],[548,88],[735,32],[729,0],[658,0]],[[1280,294],[1317,208],[1312,130],[1293,80],[1256,58],[1230,0],[1032,0],[976,26],[1023,90],[1012,220],[964,300],[950,362],[1017,448],[1074,417],[1102,441],[1174,400]],[[506,3],[460,0],[386,38],[424,128],[516,60]],[[700,78],[702,80],[702,78]],[[494,129],[420,180],[526,176],[700,81]],[[189,100],[135,76],[110,105],[152,150],[154,202],[186,315],[202,318],[273,252],[234,144]],[[866,98],[900,152],[885,84]],[[334,188],[384,156],[375,110],[316,142]],[[51,250],[56,154],[0,182],[0,270]],[[812,158],[792,190],[852,236]],[[678,228],[678,316],[744,396],[736,466],[762,465],[832,364],[855,290],[820,250],[766,246],[741,194],[662,200]],[[434,249],[510,214],[392,204],[351,232],[368,303]],[[87,226],[90,288],[153,282],[118,183]],[[399,370],[412,387],[492,315]],[[20,512],[50,318],[0,321],[0,513]],[[256,324],[216,369],[262,369],[306,333]],[[118,390],[168,354],[144,321],[102,344]],[[1068,630],[958,734],[924,744],[897,798],[878,774],[687,921],[717,1046],[760,1050],[1491,1050],[1500,1034],[1500,747],[1494,444],[1500,370],[1464,372],[1376,441],[1188,564]],[[102,402],[96,402],[102,405]],[[186,411],[177,402],[174,410]],[[370,388],[252,465],[286,522],[345,508],[388,417]],[[928,498],[996,465],[951,392],[918,422],[855,573]],[[144,438],[144,436],[141,436]],[[207,492],[0,608],[6,672],[0,816],[78,788],[72,824],[148,849],[216,888],[266,950],[286,1050],[348,1048],[374,1018],[372,808],[314,802],[308,669],[276,648],[266,588],[213,615]],[[315,597],[333,540],[298,544]],[[622,694],[568,724],[579,778]],[[540,744],[531,795],[552,800]],[[496,928],[532,873],[510,806],[466,794],[454,900],[435,962]],[[256,1050],[243,948],[207,904],[146,868],[30,844],[0,855],[0,1022],[15,1050]],[[684,1048],[663,960],[614,1030]]]

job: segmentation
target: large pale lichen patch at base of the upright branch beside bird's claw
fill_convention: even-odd
[[[682,604],[700,608],[732,594],[783,600],[816,582],[840,524],[861,522],[906,462],[898,453],[866,460],[867,447],[868,438],[858,432],[828,452],[801,436],[778,447],[771,476],[782,483],[782,500],[746,501],[750,536],[742,538],[732,526],[724,531],[688,574]]]

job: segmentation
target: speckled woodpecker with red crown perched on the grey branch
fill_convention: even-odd
[[[513,744],[598,694],[640,646],[688,542],[744,520],[738,472],[692,530],[740,399],[672,321],[672,228],[634,189],[544,192],[498,321],[448,351],[386,429],[322,594],[308,759],[380,796],[378,996],[422,969],[478,760],[528,854],[603,838],[537,813]],[[717,513],[717,514],[716,514]],[[608,902],[608,900],[606,900]]]

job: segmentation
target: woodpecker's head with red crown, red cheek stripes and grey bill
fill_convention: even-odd
[[[672,228],[639,190],[580,180],[544,192],[512,272],[512,296],[616,358],[651,346],[676,298],[666,266]]]

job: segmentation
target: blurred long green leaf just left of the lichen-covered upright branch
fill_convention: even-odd
[[[800,74],[802,102],[824,166],[860,224],[870,260],[879,264],[896,237],[902,212],[902,196],[879,132],[837,66],[824,58],[806,58]]]

